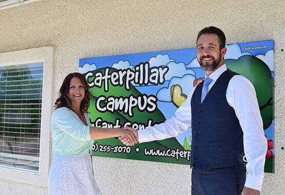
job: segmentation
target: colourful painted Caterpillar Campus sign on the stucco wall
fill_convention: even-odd
[[[226,45],[227,68],[254,85],[268,139],[265,171],[274,171],[274,42]],[[204,77],[196,48],[80,59],[92,93],[88,109],[92,126],[140,130],[171,118]],[[191,128],[175,138],[124,146],[115,138],[96,140],[92,155],[189,164]],[[246,159],[244,159],[246,161]]]

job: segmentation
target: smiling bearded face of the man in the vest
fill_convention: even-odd
[[[197,60],[205,71],[216,70],[223,65],[226,48],[220,50],[216,34],[202,34],[197,41]]]

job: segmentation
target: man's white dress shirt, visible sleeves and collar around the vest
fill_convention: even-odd
[[[226,70],[224,64],[209,76],[213,81],[208,86],[208,90],[211,90],[218,77]],[[194,90],[188,94],[186,101],[176,110],[175,116],[171,119],[154,127],[139,130],[139,142],[174,137],[191,127],[193,92]],[[226,100],[234,108],[243,131],[243,147],[248,161],[248,164],[246,164],[248,174],[244,186],[261,190],[267,139],[264,136],[263,123],[253,85],[242,75],[233,76],[226,89]]]

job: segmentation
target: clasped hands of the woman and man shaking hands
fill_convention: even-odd
[[[134,146],[139,142],[138,131],[131,127],[124,127],[119,130],[119,140],[126,146]]]

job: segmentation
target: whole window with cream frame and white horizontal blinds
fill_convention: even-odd
[[[52,47],[0,53],[0,179],[47,185]]]

